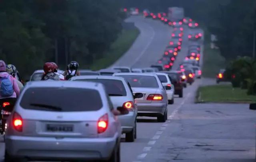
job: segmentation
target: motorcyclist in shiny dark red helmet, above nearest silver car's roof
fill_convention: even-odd
[[[52,62],[46,62],[43,69],[44,74],[41,80],[60,80],[60,77],[54,72],[55,66]]]

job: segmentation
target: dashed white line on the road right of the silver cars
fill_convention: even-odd
[[[172,111],[172,114],[168,117],[168,120],[159,128],[159,130],[156,132],[156,135],[152,137],[152,141],[148,142],[148,145],[153,146],[156,143],[156,140],[160,138],[160,135],[164,132],[164,130],[168,126],[168,123],[170,123],[170,120],[176,115],[176,113],[178,113],[179,109],[184,105],[185,101],[189,98],[189,96],[190,96],[190,93],[188,93],[186,98],[184,98],[184,100],[180,103],[180,105],[178,105],[178,107],[176,107],[176,109]],[[151,147],[144,147],[142,151],[148,152],[150,151],[150,149]],[[140,160],[145,158],[146,156],[147,156],[147,153],[143,153],[137,156],[137,159]],[[141,161],[133,161],[133,162],[141,162]]]

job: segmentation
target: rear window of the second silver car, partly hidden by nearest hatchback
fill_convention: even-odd
[[[121,80],[114,79],[78,79],[79,81],[102,83],[109,96],[126,96],[126,89]]]

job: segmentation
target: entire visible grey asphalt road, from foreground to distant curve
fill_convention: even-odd
[[[141,33],[115,66],[148,67],[163,55],[172,28],[134,16]],[[174,69],[186,57],[189,29],[184,27],[182,50]],[[168,120],[139,117],[135,142],[121,143],[121,162],[253,162],[255,157],[255,112],[246,104],[194,104],[196,80],[184,89],[183,98],[168,106]],[[211,80],[211,83],[214,83]],[[4,143],[0,143],[4,156]]]

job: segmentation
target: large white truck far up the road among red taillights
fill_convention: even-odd
[[[182,21],[184,18],[184,9],[180,7],[169,7],[168,18],[173,21]]]

